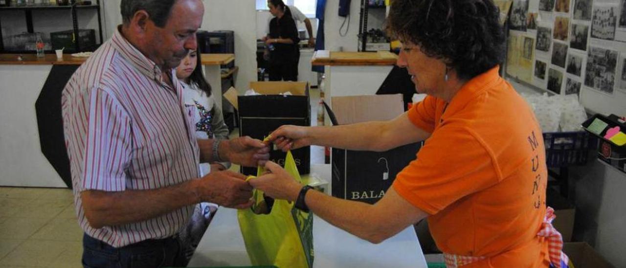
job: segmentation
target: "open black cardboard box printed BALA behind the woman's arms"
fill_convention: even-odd
[[[403,106],[399,94],[333,97],[329,116],[334,125],[385,121],[404,113]],[[420,147],[421,143],[411,143],[386,152],[332,148],[332,196],[374,204]]]

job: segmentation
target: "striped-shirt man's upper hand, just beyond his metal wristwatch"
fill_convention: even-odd
[[[225,156],[220,158],[244,167],[264,165],[270,158],[267,144],[247,136],[224,140],[218,148],[220,156]]]

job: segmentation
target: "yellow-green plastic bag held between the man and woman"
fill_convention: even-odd
[[[291,152],[285,157],[285,170],[301,182]],[[264,168],[259,167],[257,175],[264,172]],[[249,179],[254,180],[254,177]],[[274,200],[269,214],[255,214],[255,208],[264,204],[265,198],[259,190],[254,190],[253,198],[256,202],[252,209],[237,212],[252,265],[313,267],[313,215],[296,209],[293,202],[285,200]]]

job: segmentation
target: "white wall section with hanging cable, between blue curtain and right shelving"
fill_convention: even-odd
[[[350,6],[350,28],[346,36],[339,35],[339,27],[344,21],[344,17],[340,17],[339,0],[327,0],[326,13],[324,14],[324,34],[326,34],[326,50],[339,51],[357,51],[359,33],[359,1],[352,0]],[[346,22],[347,26],[347,22]],[[344,26],[345,31],[345,26]]]

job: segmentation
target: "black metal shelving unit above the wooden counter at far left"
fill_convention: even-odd
[[[36,10],[69,10],[72,18],[72,26],[74,31],[74,36],[78,37],[78,14],[77,10],[81,9],[93,9],[98,13],[98,33],[100,36],[100,43],[102,43],[102,15],[100,12],[100,0],[95,0],[96,4],[92,5],[79,5],[76,1],[71,1],[69,6],[9,6],[9,7],[0,7],[0,13],[2,11],[24,11],[24,16],[26,18],[26,31],[28,33],[35,33],[33,27],[33,11]],[[1,21],[0,21],[1,23]],[[80,46],[80,38],[75,38],[76,40],[76,51],[82,51]],[[51,53],[52,51],[47,51]],[[6,51],[4,49],[4,38],[2,37],[2,28],[0,24],[0,53],[35,53],[35,51]]]

